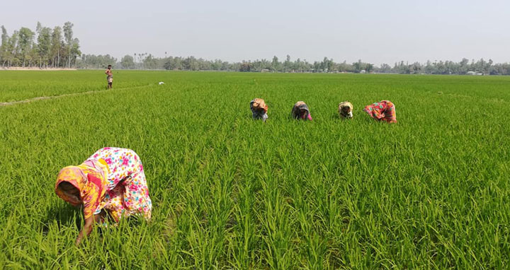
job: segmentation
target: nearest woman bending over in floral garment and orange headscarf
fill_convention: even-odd
[[[105,222],[107,212],[115,222],[136,213],[147,221],[151,217],[152,201],[142,161],[130,149],[101,148],[81,165],[63,168],[55,193],[73,206],[83,205],[85,224],[77,245],[95,222]]]

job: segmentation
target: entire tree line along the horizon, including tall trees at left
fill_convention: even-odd
[[[48,28],[37,24],[35,31],[22,27],[8,35],[1,26],[0,63],[2,67],[39,67],[103,69],[113,64],[116,69],[159,69],[183,71],[241,71],[241,72],[299,72],[299,73],[396,73],[396,74],[482,74],[510,75],[510,63],[494,64],[492,60],[462,59],[455,61],[427,61],[409,63],[399,61],[393,66],[376,66],[364,61],[335,62],[324,57],[322,61],[306,59],[256,59],[228,62],[190,57],[154,57],[152,54],[125,55],[119,61],[111,55],[81,54],[79,40],[73,36],[73,24]]]

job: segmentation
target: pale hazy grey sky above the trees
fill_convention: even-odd
[[[370,61],[510,61],[509,0],[9,1],[9,34],[74,23],[86,54]]]

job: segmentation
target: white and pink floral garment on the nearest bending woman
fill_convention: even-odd
[[[103,159],[108,164],[106,194],[96,209],[108,211],[115,221],[123,216],[141,213],[151,217],[152,201],[140,157],[130,149],[106,147],[99,149],[88,160]]]

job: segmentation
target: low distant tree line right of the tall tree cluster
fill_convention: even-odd
[[[115,69],[182,70],[182,71],[241,71],[241,72],[297,72],[297,73],[394,73],[394,74],[478,74],[510,75],[510,63],[494,64],[492,60],[475,61],[462,59],[455,61],[426,61],[409,63],[399,61],[393,66],[376,66],[361,60],[353,63],[335,62],[324,57],[322,61],[291,60],[287,55],[284,61],[273,57],[255,61],[228,62],[220,59],[208,60],[196,57],[154,57],[152,54],[138,53],[125,55],[118,61],[106,55],[84,54],[77,61],[81,69],[97,69],[113,64]]]

